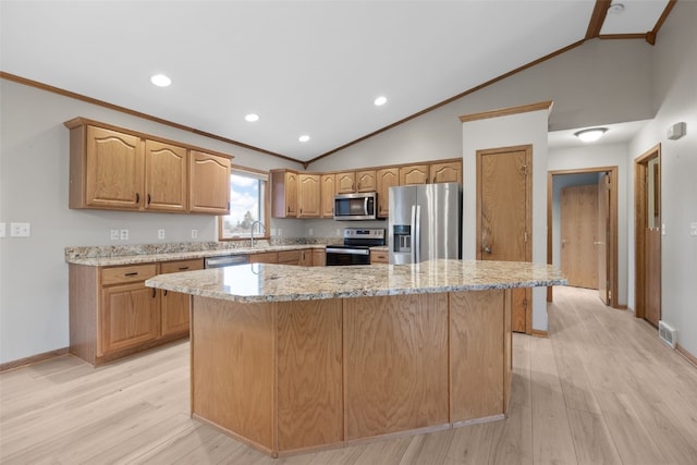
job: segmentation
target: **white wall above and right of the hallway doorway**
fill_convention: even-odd
[[[634,254],[627,234],[628,210],[633,199],[627,197],[634,168],[627,162],[626,144],[592,144],[583,147],[550,149],[548,170],[617,167],[617,304],[627,305],[627,260]]]

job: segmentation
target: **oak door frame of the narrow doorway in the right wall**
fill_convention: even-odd
[[[660,175],[661,144],[651,147],[634,159],[634,316],[641,319],[646,317],[646,298],[643,291],[644,283],[646,283],[646,254],[644,247],[646,244],[647,192],[644,180],[646,179],[648,162],[655,157],[658,158]],[[659,192],[659,199],[661,198],[660,194]],[[662,208],[659,207],[659,211],[662,213]]]

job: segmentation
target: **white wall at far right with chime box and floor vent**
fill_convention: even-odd
[[[678,1],[661,28],[655,53],[653,98],[658,112],[632,140],[628,160],[661,144],[662,319],[677,329],[677,343],[697,356],[697,2]],[[669,140],[669,126],[684,121],[687,135]],[[632,174],[632,178],[634,175]],[[628,192],[634,201],[634,183]],[[629,306],[635,304],[634,210],[628,211]]]

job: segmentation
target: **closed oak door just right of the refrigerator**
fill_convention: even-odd
[[[530,261],[533,147],[477,150],[477,259]],[[513,331],[533,331],[531,291],[511,293]]]

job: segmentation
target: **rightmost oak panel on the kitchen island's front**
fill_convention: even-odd
[[[510,351],[510,343],[504,343],[504,321],[510,322],[503,315],[505,297],[503,290],[450,293],[453,424],[504,414],[504,350]]]

